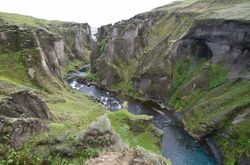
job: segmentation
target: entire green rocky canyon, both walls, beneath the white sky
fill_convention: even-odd
[[[123,97],[171,113],[214,164],[249,164],[249,11],[248,0],[177,1],[95,40],[87,23],[0,13],[0,164],[171,164],[168,132]]]

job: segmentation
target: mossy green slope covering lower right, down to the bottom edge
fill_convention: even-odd
[[[209,88],[204,91],[196,90],[175,106],[184,107],[183,119],[190,132],[206,135],[210,130],[219,130],[215,136],[225,156],[225,164],[235,164],[239,155],[250,148],[250,83],[243,80],[230,82],[224,78],[227,71],[223,73],[219,66],[211,68],[215,71],[209,76],[209,79],[212,78]],[[211,84],[214,84],[213,87]],[[193,98],[193,95],[199,97]],[[187,100],[192,104],[185,105]],[[242,117],[239,123],[233,123],[238,115],[244,113],[248,115]]]

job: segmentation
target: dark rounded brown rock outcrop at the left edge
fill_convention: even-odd
[[[14,93],[0,102],[0,142],[18,148],[32,135],[47,130],[42,120],[52,120],[47,105],[28,91]]]

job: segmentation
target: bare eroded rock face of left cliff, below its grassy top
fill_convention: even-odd
[[[62,88],[62,67],[74,59],[87,59],[92,44],[88,24],[60,22],[31,28],[0,22],[1,53],[17,53],[31,81],[49,92]]]

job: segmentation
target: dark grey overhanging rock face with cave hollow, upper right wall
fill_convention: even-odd
[[[230,70],[229,79],[249,79],[249,26],[249,24],[236,21],[197,23],[186,36],[176,43],[172,57],[174,60],[185,58],[192,52],[192,46],[196,46],[200,48],[200,51],[193,53],[199,54],[198,58],[211,58],[212,64],[224,65]],[[206,49],[201,50],[202,47],[206,47]],[[206,57],[208,54],[210,57]]]

